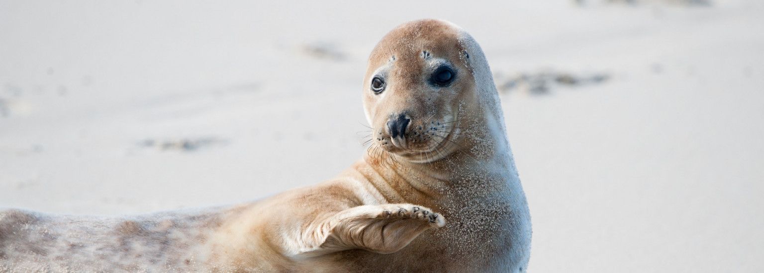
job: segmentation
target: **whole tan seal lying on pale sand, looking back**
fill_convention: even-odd
[[[5,210],[0,271],[526,271],[529,210],[478,43],[446,21],[403,24],[362,94],[367,154],[337,178],[136,217]]]

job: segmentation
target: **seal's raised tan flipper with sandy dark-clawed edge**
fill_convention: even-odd
[[[445,218],[427,207],[381,204],[351,207],[335,214],[316,230],[299,256],[324,255],[347,249],[392,253],[403,249],[425,230],[445,225]]]

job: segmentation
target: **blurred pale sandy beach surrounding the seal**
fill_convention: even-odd
[[[364,153],[367,54],[419,18],[487,55],[530,271],[764,271],[759,0],[0,0],[0,207],[138,214],[332,178]]]

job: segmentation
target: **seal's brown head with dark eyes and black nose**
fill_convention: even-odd
[[[477,43],[447,21],[414,21],[383,37],[364,79],[373,145],[410,162],[433,162],[470,146],[461,129],[467,120],[485,121],[474,56],[483,56]],[[485,92],[495,96],[488,77],[491,90]],[[490,108],[498,107],[496,101]]]

